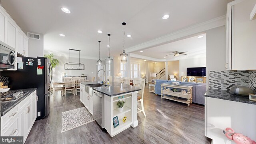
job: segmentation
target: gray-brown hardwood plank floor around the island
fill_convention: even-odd
[[[79,96],[62,97],[56,92],[49,116],[34,123],[25,144],[210,144],[204,136],[204,106],[161,100],[149,92],[148,84],[144,91],[146,117],[140,112],[136,128],[113,138],[95,121],[61,133],[62,112],[81,107]]]

